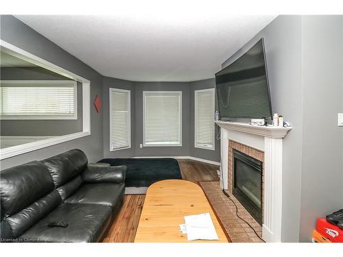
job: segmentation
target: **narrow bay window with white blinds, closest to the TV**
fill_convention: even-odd
[[[215,149],[215,90],[195,91],[195,147]]]

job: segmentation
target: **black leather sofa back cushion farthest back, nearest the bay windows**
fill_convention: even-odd
[[[73,149],[58,156],[42,160],[41,162],[49,169],[57,188],[63,186],[84,171],[88,160],[83,151]]]

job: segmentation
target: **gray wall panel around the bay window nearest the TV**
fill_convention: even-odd
[[[207,88],[215,88],[215,79],[203,79],[195,82],[190,82],[190,97],[189,97],[189,110],[190,110],[190,133],[189,133],[189,147],[190,156],[196,158],[202,158],[204,160],[213,160],[215,162],[220,162],[220,139],[215,139],[215,150],[206,150],[201,148],[194,147],[194,140],[195,140],[195,128],[194,128],[194,119],[195,119],[195,103],[194,103],[194,92],[195,90],[199,89],[207,89]],[[215,110],[218,110],[217,104],[217,95],[215,95]],[[213,113],[214,119],[214,113]],[[217,138],[217,134],[220,132],[220,127],[215,125],[215,138]]]

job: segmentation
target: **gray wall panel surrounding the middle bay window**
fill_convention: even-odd
[[[136,143],[135,156],[189,156],[189,83],[187,82],[136,82]],[[182,91],[182,147],[143,147],[143,91]]]

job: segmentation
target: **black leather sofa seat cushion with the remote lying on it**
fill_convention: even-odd
[[[110,219],[110,206],[60,204],[19,239],[25,242],[97,242],[104,235]],[[56,221],[68,223],[67,228],[48,226]]]

